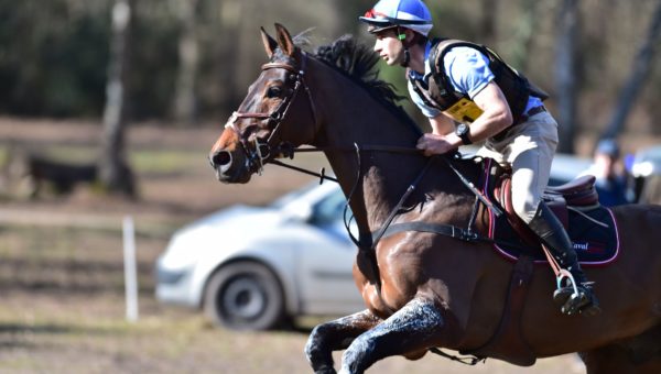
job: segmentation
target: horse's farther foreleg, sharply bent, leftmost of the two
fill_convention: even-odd
[[[335,373],[333,351],[349,346],[356,337],[380,322],[380,318],[364,310],[315,327],[305,344],[305,355],[314,372]]]

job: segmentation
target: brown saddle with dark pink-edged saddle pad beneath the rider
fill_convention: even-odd
[[[489,238],[497,242],[495,249],[510,260],[528,254],[535,262],[545,262],[539,238],[513,210],[511,170],[492,160],[483,162],[483,194],[505,211],[501,217],[492,213],[490,217]],[[578,261],[588,266],[613,262],[619,249],[615,218],[599,205],[595,182],[592,175],[582,176],[562,186],[548,187],[543,195],[544,202],[570,234]]]

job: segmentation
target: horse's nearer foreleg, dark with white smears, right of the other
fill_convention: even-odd
[[[375,362],[434,346],[443,317],[430,300],[414,298],[376,328],[359,336],[343,355],[340,373],[362,373]]]

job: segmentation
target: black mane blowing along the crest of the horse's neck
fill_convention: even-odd
[[[294,44],[297,46],[310,45],[303,32],[294,37]],[[405,97],[394,91],[394,86],[390,82],[379,79],[379,73],[376,68],[379,56],[370,47],[358,43],[350,34],[337,38],[328,45],[318,46],[313,56],[318,61],[326,63],[330,67],[346,75],[358,86],[365,88],[377,101],[383,103],[401,122],[412,127],[416,133],[421,133],[418,124],[409,114],[398,105]]]

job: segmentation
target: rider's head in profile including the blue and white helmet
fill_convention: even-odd
[[[377,37],[375,51],[389,65],[407,66],[409,47],[424,44],[433,26],[432,14],[422,0],[380,0],[359,20]]]

